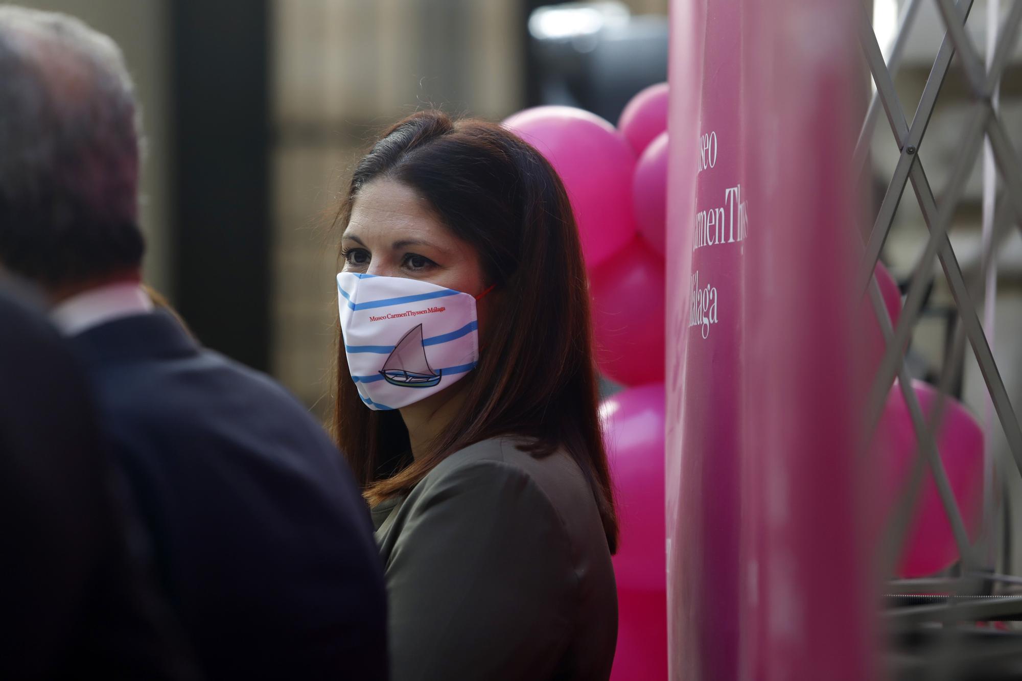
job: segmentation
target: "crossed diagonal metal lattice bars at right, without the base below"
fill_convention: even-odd
[[[893,560],[896,559],[897,555],[897,548],[905,536],[911,520],[911,511],[915,505],[915,500],[922,483],[924,461],[933,472],[937,492],[950,524],[963,568],[968,570],[972,562],[971,547],[965,530],[965,524],[958,504],[955,501],[946,471],[943,468],[937,451],[935,438],[941,422],[944,402],[950,388],[950,382],[953,379],[957,379],[958,371],[954,369],[960,369],[961,367],[950,367],[951,370],[945,369],[942,374],[937,401],[928,414],[928,418],[924,418],[915,393],[911,390],[908,373],[902,363],[903,349],[908,347],[912,329],[915,327],[922,312],[926,287],[932,276],[934,257],[940,261],[961,320],[961,323],[956,327],[954,349],[949,356],[955,357],[958,353],[961,353],[965,339],[968,338],[986,382],[990,400],[1004,427],[1009,447],[1020,471],[1022,471],[1022,429],[1019,428],[1018,418],[1012,408],[1004,380],[990,351],[989,343],[987,342],[973,302],[973,297],[970,294],[970,288],[982,290],[986,264],[990,262],[990,259],[985,257],[981,261],[978,277],[979,286],[970,287],[965,280],[947,236],[947,230],[949,229],[955,209],[959,203],[966,181],[975,165],[984,133],[990,140],[998,170],[1004,176],[1007,186],[1022,189],[1022,165],[1018,162],[1018,156],[1011,145],[1002,122],[997,118],[996,111],[990,105],[990,94],[1000,82],[1001,74],[1008,62],[1008,56],[1011,54],[1018,36],[1019,27],[1022,25],[1022,2],[1014,3],[1006,21],[1005,31],[996,43],[988,71],[982,65],[979,55],[969,41],[964,28],[965,21],[972,9],[973,1],[960,0],[956,6],[951,0],[937,0],[937,4],[946,32],[911,126],[905,119],[894,87],[892,71],[896,69],[897,64],[884,62],[883,54],[877,42],[876,35],[873,32],[871,18],[865,9],[858,24],[860,42],[866,61],[873,75],[874,83],[876,84],[876,92],[870,103],[870,109],[867,112],[867,118],[855,146],[853,156],[854,170],[861,173],[868,156],[870,137],[876,118],[878,102],[879,105],[883,106],[888,124],[894,135],[894,140],[900,150],[900,156],[895,166],[891,181],[888,184],[884,199],[881,202],[873,231],[866,244],[866,253],[863,257],[858,280],[856,282],[858,284],[856,290],[863,291],[870,298],[887,345],[871,390],[867,423],[869,432],[873,433],[879,422],[888,393],[888,387],[896,374],[919,442],[908,489],[899,500],[885,537],[886,541],[883,553],[885,574],[890,574],[890,571],[892,571]],[[918,2],[915,1],[911,2],[904,9],[895,41],[895,53],[898,55],[900,54],[900,48],[904,44],[908,31],[911,28],[912,19],[917,11]],[[974,98],[977,101],[973,105],[973,110],[969,116],[969,122],[963,135],[962,153],[953,169],[942,202],[938,207],[926,177],[919,148],[933,115],[937,95],[946,77],[956,50],[960,52],[960,60],[966,71]],[[922,210],[923,218],[930,235],[924,253],[914,268],[901,316],[896,327],[892,329],[890,318],[884,308],[879,287],[874,278],[874,271],[903,195],[904,187],[910,181],[912,182],[916,199]],[[1009,200],[1012,202],[1016,215],[1022,218],[1022,191],[1008,191],[1007,194],[1010,197]],[[1022,224],[1022,221],[1020,221],[1020,224]],[[992,248],[994,242],[998,240],[1000,238],[991,239],[990,244],[988,244],[989,247]],[[989,254],[986,255],[988,256]]]

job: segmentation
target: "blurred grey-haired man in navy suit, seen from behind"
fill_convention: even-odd
[[[386,678],[379,558],[337,451],[283,390],[198,347],[139,285],[120,50],[72,17],[0,6],[0,267],[46,291],[86,362],[204,671]]]

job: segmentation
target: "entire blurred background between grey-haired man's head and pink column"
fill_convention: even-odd
[[[338,192],[387,126],[666,80],[668,0],[25,0],[121,45],[142,103],[146,278],[208,346],[326,415]],[[531,20],[530,20],[531,19]]]

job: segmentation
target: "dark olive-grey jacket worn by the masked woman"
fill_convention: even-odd
[[[373,509],[393,681],[605,681],[617,593],[593,491],[565,452],[502,438]]]

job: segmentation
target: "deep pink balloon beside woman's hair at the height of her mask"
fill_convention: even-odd
[[[600,370],[625,385],[663,380],[663,258],[635,238],[593,270],[593,332]]]

